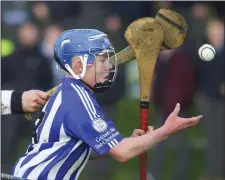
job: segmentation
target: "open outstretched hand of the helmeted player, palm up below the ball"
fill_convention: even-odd
[[[163,125],[163,128],[165,129],[165,132],[168,136],[182,129],[196,125],[199,122],[199,120],[203,117],[202,115],[199,115],[192,118],[181,118],[178,117],[179,111],[180,111],[180,104],[177,103],[174,111],[169,115],[165,124]]]

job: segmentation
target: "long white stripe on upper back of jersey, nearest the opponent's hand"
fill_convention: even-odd
[[[40,133],[39,142],[44,142],[44,141],[48,142],[48,138],[49,138],[51,126],[52,126],[52,123],[53,123],[53,119],[55,117],[55,114],[56,114],[61,102],[62,102],[62,91],[60,91],[57,94],[56,99],[55,99],[55,101],[54,101],[54,103],[51,107],[49,115],[48,115],[48,117],[45,121],[45,124],[43,126],[43,129]]]

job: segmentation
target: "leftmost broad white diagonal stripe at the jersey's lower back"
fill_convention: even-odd
[[[46,149],[37,154],[34,158],[32,158],[29,162],[23,165],[18,172],[18,176],[22,177],[23,174],[32,166],[36,166],[45,160],[48,156],[57,151],[60,147],[64,146],[66,142],[55,142],[51,149]],[[33,153],[33,151],[31,151]],[[16,174],[15,174],[16,175]]]

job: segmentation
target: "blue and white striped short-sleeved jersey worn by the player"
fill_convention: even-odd
[[[36,121],[36,137],[12,174],[27,179],[78,179],[91,150],[101,155],[123,137],[81,81],[65,78]]]

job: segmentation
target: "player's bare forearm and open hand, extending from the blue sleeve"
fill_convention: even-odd
[[[109,150],[110,155],[120,162],[126,162],[151,149],[156,144],[168,138],[171,134],[187,127],[194,126],[202,118],[202,116],[180,118],[177,116],[179,110],[180,105],[177,104],[175,110],[170,114],[161,128],[143,136],[123,139],[115,147]]]

